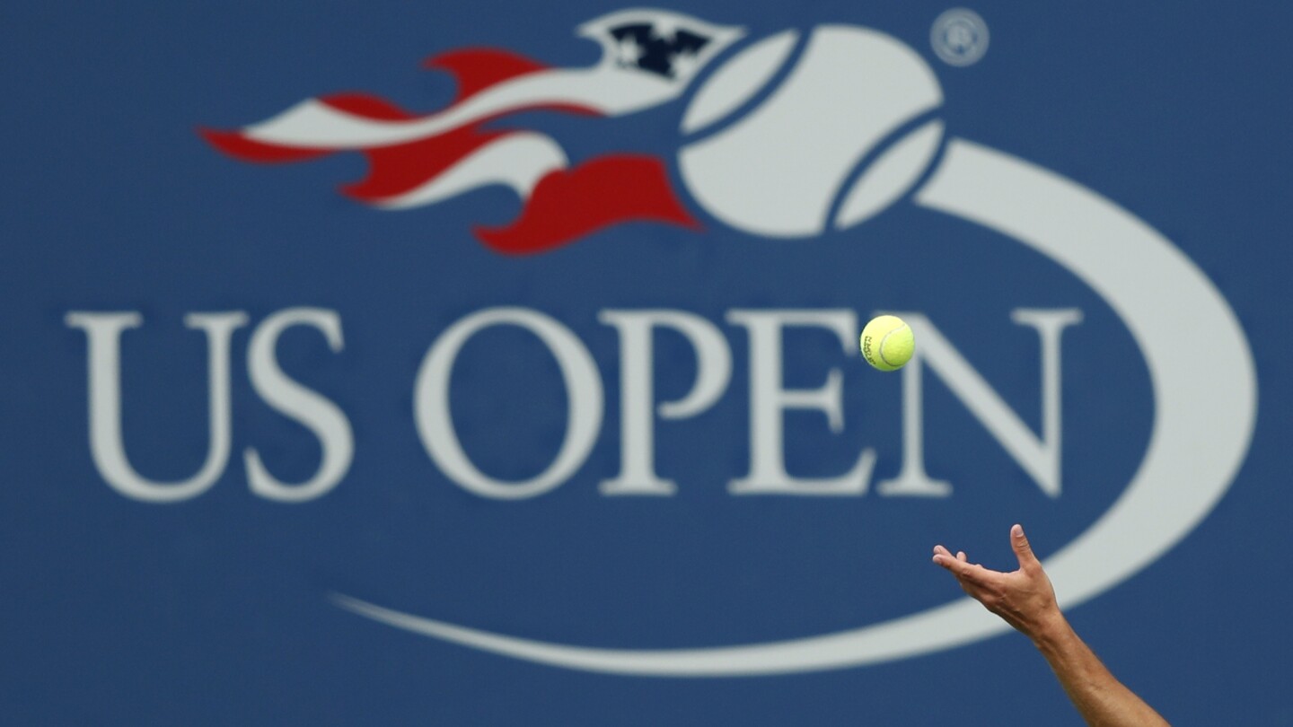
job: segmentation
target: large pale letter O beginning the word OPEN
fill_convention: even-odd
[[[467,339],[490,326],[520,326],[548,347],[566,388],[566,431],[561,450],[547,470],[521,481],[495,480],[481,472],[463,451],[449,413],[449,380]],[[543,494],[578,470],[601,431],[601,375],[592,356],[570,329],[528,308],[487,308],[450,326],[432,344],[418,370],[414,418],[423,446],[436,464],[463,489],[493,499],[524,499]]]

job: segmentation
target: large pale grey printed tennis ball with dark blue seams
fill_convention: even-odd
[[[736,56],[683,118],[684,132],[720,124],[791,66],[767,100],[688,144],[679,160],[706,211],[763,237],[865,221],[910,189],[943,138],[943,123],[930,118],[943,102],[939,81],[910,48],[873,30],[824,26],[789,60],[796,40],[782,32]]]

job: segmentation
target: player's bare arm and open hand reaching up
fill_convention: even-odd
[[[1009,573],[970,563],[965,551],[952,555],[941,545],[934,546],[934,563],[956,576],[971,598],[1033,642],[1087,724],[1168,726],[1166,719],[1113,677],[1069,626],[1023,526],[1010,529],[1010,546],[1019,569]]]

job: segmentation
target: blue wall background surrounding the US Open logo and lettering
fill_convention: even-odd
[[[1146,458],[1156,431],[1151,371],[1102,292],[1010,235],[921,206],[918,191],[861,225],[806,239],[724,224],[688,191],[678,163],[694,89],[639,114],[507,119],[507,128],[556,140],[574,163],[627,151],[662,160],[700,222],[634,221],[524,256],[499,255],[472,234],[520,212],[509,189],[383,211],[336,191],[366,173],[358,154],[257,167],[197,133],[238,129],[336,92],[432,111],[451,102],[454,83],[419,63],[454,48],[587,66],[600,50],[575,27],[619,8],[44,3],[4,13],[0,722],[1080,723],[1018,634],[843,669],[625,675],[425,638],[330,598],[603,649],[835,634],[958,599],[928,563],[936,542],[1009,568],[1007,529],[1023,521],[1043,558],[1059,552],[1115,507]],[[943,4],[694,0],[671,9],[743,26],[746,45],[826,23],[888,34],[936,75],[946,140],[1003,151],[1103,195],[1215,286],[1256,362],[1256,428],[1240,437],[1248,446],[1237,475],[1182,481],[1186,490],[1231,484],[1178,545],[1069,617],[1174,723],[1293,723],[1279,688],[1293,642],[1283,617],[1293,596],[1293,349],[1284,335],[1293,10],[984,1],[971,9],[990,44],[958,67],[931,48]],[[738,49],[702,69],[701,81]],[[1127,265],[1173,304],[1175,291],[1156,287],[1153,261],[1130,256]],[[257,393],[248,349],[266,318],[300,307],[335,316],[344,343],[330,347],[319,330],[296,326],[277,342],[277,361],[344,414],[353,459],[327,492],[281,502],[248,486],[246,451],[284,483],[303,483],[325,446]],[[419,369],[445,331],[499,307],[568,330],[595,361],[604,395],[600,427],[573,473],[515,499],[482,497],[446,472],[419,436],[414,401]],[[731,310],[846,310],[859,329],[875,310],[921,313],[1040,437],[1043,356],[1037,334],[1011,321],[1020,308],[1082,313],[1058,354],[1058,497],[931,362],[923,464],[953,489],[886,495],[877,483],[904,461],[910,379],[870,370],[822,327],[786,332],[782,383],[813,389],[839,371],[843,422],[833,429],[821,411],[786,411],[785,466],[798,477],[839,476],[871,448],[868,488],[837,497],[731,492],[751,468],[756,366],[751,334]],[[625,450],[625,361],[617,329],[599,313],[644,309],[712,323],[732,373],[705,411],[653,424],[656,471],[676,483],[674,494],[605,494],[599,484],[621,471]],[[193,477],[212,439],[207,339],[185,327],[185,316],[246,313],[230,338],[231,451],[199,494],[146,502],[105,477],[91,448],[91,345],[70,325],[74,312],[141,316],[120,338],[120,420],[131,464],[153,481]],[[1188,339],[1192,356],[1234,353],[1188,323],[1173,334]],[[676,401],[698,373],[693,348],[668,330],[653,342],[654,401]],[[1232,385],[1231,374],[1244,371],[1197,380],[1200,400]],[[561,448],[568,397],[540,340],[499,326],[462,348],[446,406],[471,461],[498,481],[521,481]],[[1235,439],[1196,435],[1205,453],[1214,439]],[[1170,501],[1155,512],[1181,517]],[[1106,567],[1115,565],[1084,565]]]

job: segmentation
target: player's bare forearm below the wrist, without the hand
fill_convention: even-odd
[[[1106,669],[1059,612],[1029,635],[1087,724],[1168,727],[1166,719]]]

